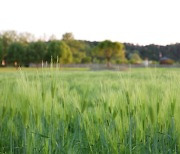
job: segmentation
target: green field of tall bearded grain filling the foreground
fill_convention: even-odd
[[[0,71],[0,153],[180,153],[180,70]]]

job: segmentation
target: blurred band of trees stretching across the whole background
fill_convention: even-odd
[[[61,64],[69,63],[137,63],[142,59],[158,61],[160,54],[180,61],[180,44],[133,45],[129,43],[90,42],[75,40],[72,33],[65,33],[61,40],[36,40],[32,34],[15,31],[0,33],[0,60],[6,65],[28,66],[52,60]]]

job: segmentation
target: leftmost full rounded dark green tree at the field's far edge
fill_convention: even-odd
[[[24,63],[25,57],[25,48],[22,43],[14,42],[8,48],[8,54],[6,57],[6,61],[10,64],[17,62],[18,65],[22,65]]]

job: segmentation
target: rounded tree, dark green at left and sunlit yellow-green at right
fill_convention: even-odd
[[[53,60],[59,58],[61,64],[67,64],[72,62],[72,53],[69,46],[63,41],[51,41],[48,45],[48,61],[51,57]]]

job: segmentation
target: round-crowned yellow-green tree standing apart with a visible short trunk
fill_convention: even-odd
[[[123,59],[125,57],[124,45],[109,40],[100,42],[95,52],[97,52],[98,56],[104,57],[107,60],[107,67],[110,67],[112,58]]]

